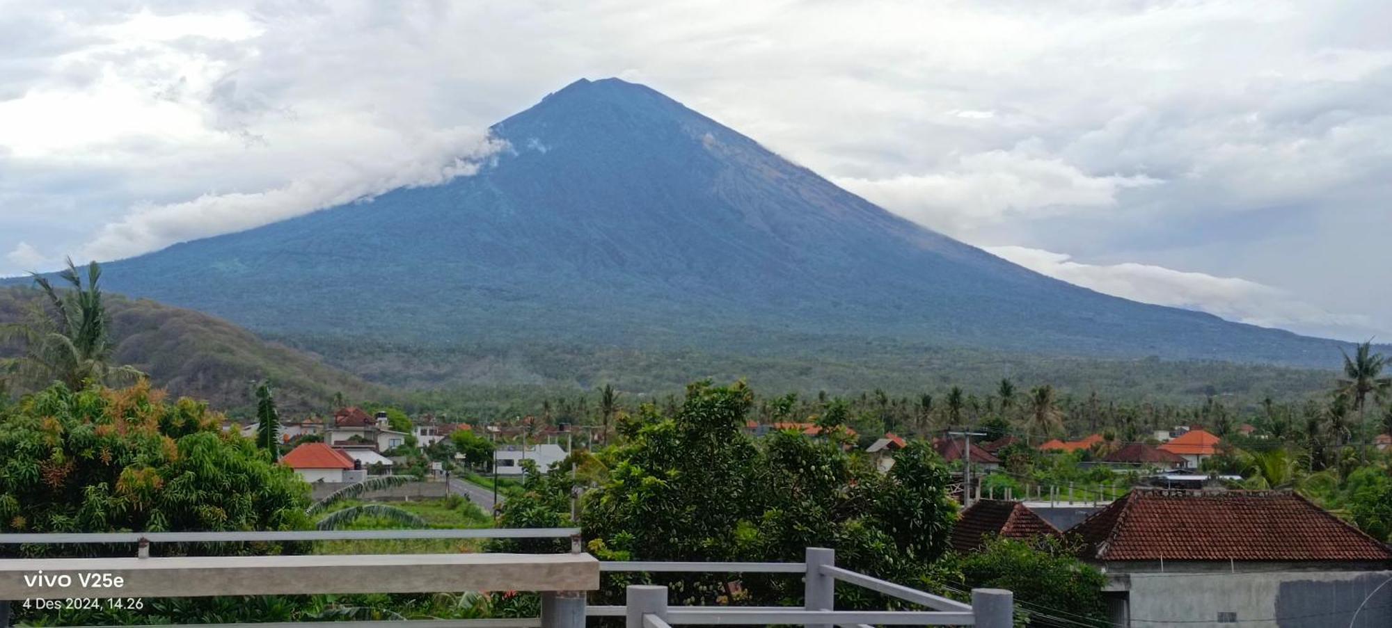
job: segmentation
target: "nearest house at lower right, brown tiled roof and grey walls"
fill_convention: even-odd
[[[1292,492],[1133,489],[1066,536],[1112,625],[1392,625],[1392,550]]]

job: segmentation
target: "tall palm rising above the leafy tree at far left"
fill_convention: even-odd
[[[25,356],[15,361],[15,370],[35,383],[57,381],[74,390],[114,378],[139,379],[143,374],[135,368],[110,364],[113,347],[106,303],[97,286],[102,267],[95,261],[88,264],[84,285],[77,265],[71,258],[67,261],[58,278],[72,290],[58,292],[47,278],[33,274],[47,308],[39,306],[29,321],[3,329],[3,338],[18,338],[25,345]]]

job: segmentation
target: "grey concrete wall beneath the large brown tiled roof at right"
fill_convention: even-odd
[[[1109,589],[1115,592],[1108,593],[1111,621],[1123,627],[1346,627],[1354,609],[1392,578],[1392,571],[1251,572],[1260,570],[1257,564],[1235,568],[1236,572],[1114,574]],[[1218,613],[1233,613],[1237,622],[1219,622]],[[1392,627],[1392,584],[1373,595],[1353,627]]]

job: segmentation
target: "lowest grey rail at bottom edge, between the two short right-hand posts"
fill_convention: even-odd
[[[667,609],[672,625],[757,625],[757,624],[871,624],[871,625],[974,625],[972,611],[913,610],[802,610],[674,606]]]

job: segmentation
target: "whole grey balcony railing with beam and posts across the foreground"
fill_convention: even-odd
[[[835,565],[835,552],[809,547],[803,563],[681,563],[599,561],[582,553],[576,528],[526,529],[393,529],[295,532],[114,532],[14,534],[0,545],[113,545],[136,546],[134,557],[116,559],[0,559],[0,600],[28,597],[198,597],[217,595],[306,593],[429,593],[457,590],[535,590],[541,614],[508,620],[426,620],[333,622],[334,628],[362,625],[411,628],[583,628],[587,617],[624,617],[625,628],[672,625],[802,624],[809,628],[867,625],[977,625],[1009,628],[1012,593],[976,589],[962,603]],[[571,539],[560,554],[312,554],[149,557],[152,543],[235,543],[355,539]],[[43,572],[50,586],[35,586]],[[86,588],[79,574],[109,574],[120,588]],[[352,577],[345,578],[349,572]],[[668,606],[667,588],[632,585],[624,606],[589,606],[586,592],[599,590],[601,572],[802,574],[805,603],[785,606]],[[29,577],[26,581],[25,577]],[[67,575],[67,581],[61,577]],[[67,582],[67,585],[63,585]],[[860,586],[931,610],[835,610],[837,582]],[[8,613],[0,602],[0,627]],[[276,624],[258,624],[276,627]],[[317,624],[284,624],[315,627]]]

